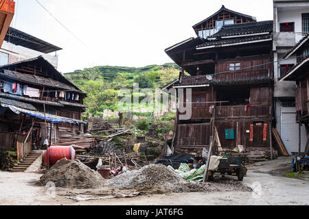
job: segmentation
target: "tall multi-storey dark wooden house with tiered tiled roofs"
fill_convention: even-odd
[[[218,16],[222,12],[225,16]],[[179,79],[165,88],[192,89],[192,102],[179,103],[191,104],[191,118],[181,120],[179,110],[176,113],[176,152],[207,148],[211,120],[224,149],[238,145],[247,151],[271,149],[273,21],[256,22],[251,16],[222,7],[203,23],[225,17],[233,23],[223,25],[215,34],[189,38],[165,49],[182,68]],[[177,95],[181,97],[179,92]]]

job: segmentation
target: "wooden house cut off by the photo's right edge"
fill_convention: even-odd
[[[295,105],[297,116],[295,120],[299,124],[299,145],[294,151],[309,154],[308,141],[301,144],[301,124],[306,128],[306,135],[309,134],[309,34],[306,34],[286,55],[284,59],[288,60],[292,55],[297,56],[297,64],[281,76],[279,81],[295,81]]]

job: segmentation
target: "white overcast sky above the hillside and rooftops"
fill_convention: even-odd
[[[196,36],[192,25],[225,8],[273,20],[272,0],[14,0],[11,26],[62,48],[62,73],[93,66],[146,66],[172,62],[164,49]],[[52,53],[54,54],[54,53]]]

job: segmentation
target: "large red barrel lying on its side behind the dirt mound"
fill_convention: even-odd
[[[58,160],[67,157],[75,159],[75,150],[73,146],[51,146],[48,149],[49,165],[54,165]],[[47,166],[47,151],[43,154],[43,163]]]

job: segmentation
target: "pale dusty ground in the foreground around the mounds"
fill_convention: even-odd
[[[135,197],[113,198],[132,194],[133,190],[72,190],[36,186],[41,177],[37,172],[0,172],[0,205],[309,205],[309,181],[282,177],[290,169],[292,158],[279,157],[269,162],[247,166],[242,182],[251,190],[214,190],[170,194],[140,194]],[[225,187],[225,185],[220,185]],[[101,199],[74,201],[67,196]]]

